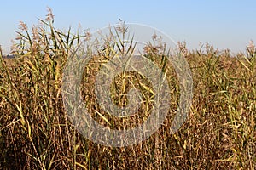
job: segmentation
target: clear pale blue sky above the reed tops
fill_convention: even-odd
[[[250,40],[256,42],[255,0],[8,0],[0,3],[1,46],[9,48],[20,20],[28,26],[38,24],[47,7],[53,10],[55,27],[64,30],[80,23],[94,31],[122,19],[154,26],[176,42],[186,41],[189,49],[209,42],[215,48],[244,52]]]

